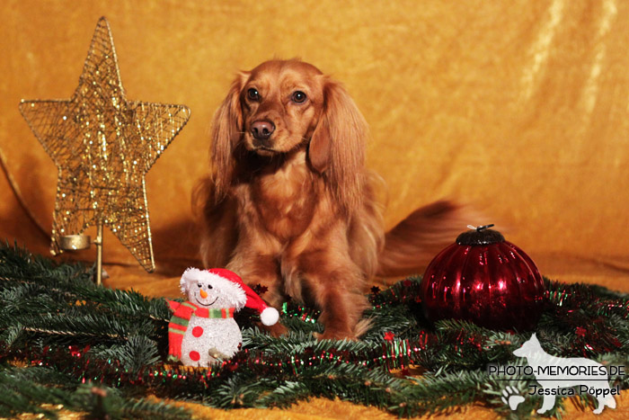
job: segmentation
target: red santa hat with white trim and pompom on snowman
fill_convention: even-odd
[[[258,294],[249,286],[244,284],[243,279],[234,272],[224,268],[210,268],[209,270],[199,270],[189,268],[183,272],[182,280],[179,284],[182,293],[187,294],[190,283],[194,281],[211,281],[217,291],[226,295],[236,309],[243,307],[252,308],[260,313],[260,319],[265,326],[272,326],[278,322],[279,313],[276,308],[271,308]]]

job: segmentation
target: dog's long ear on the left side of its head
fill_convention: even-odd
[[[216,201],[225,197],[234,176],[233,154],[243,131],[243,109],[240,104],[240,93],[248,76],[249,72],[240,72],[236,76],[225,100],[214,114],[210,152]]]

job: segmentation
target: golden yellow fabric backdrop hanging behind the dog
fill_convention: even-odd
[[[105,262],[112,285],[164,293],[159,282],[177,296],[173,277],[199,264],[190,192],[208,170],[213,112],[237,70],[299,57],[341,80],[369,122],[388,226],[453,199],[486,215],[471,224],[496,223],[542,273],[629,290],[628,9],[620,0],[4,0],[0,149],[49,235],[57,170],[18,103],[73,94],[105,15],[127,98],[192,111],[146,178],[158,273],[142,273],[109,234]],[[0,237],[48,253],[26,214],[0,175]]]

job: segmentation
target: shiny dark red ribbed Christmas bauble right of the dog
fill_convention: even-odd
[[[462,233],[430,262],[421,281],[430,321],[464,319],[494,329],[536,326],[542,276],[533,260],[492,226]]]

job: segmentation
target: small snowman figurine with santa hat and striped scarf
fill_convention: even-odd
[[[243,342],[234,312],[244,307],[258,310],[265,326],[278,322],[278,311],[229,270],[189,268],[180,285],[188,301],[167,300],[173,311],[168,325],[170,361],[208,367],[231,358]]]

